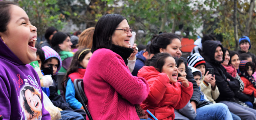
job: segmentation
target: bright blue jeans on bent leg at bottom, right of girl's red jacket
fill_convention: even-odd
[[[209,104],[197,108],[195,120],[233,120],[227,105],[222,103]]]

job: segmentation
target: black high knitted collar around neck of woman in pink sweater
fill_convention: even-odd
[[[110,50],[121,56],[126,65],[128,64],[128,58],[134,51],[132,48],[121,47],[114,44],[112,44],[112,48]]]

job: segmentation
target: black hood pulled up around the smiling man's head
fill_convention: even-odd
[[[205,61],[212,64],[221,64],[224,61],[224,55],[221,62],[216,61],[214,58],[215,50],[218,46],[223,50],[222,44],[217,41],[205,41],[203,43],[203,58]]]

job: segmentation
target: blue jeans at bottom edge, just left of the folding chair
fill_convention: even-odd
[[[61,120],[84,120],[83,116],[73,111],[63,110],[60,111]]]

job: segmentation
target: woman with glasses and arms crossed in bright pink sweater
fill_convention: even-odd
[[[133,53],[129,48],[132,36],[125,17],[104,15],[96,24],[92,42],[92,57],[83,78],[92,119],[139,119],[135,104],[141,104],[149,94],[142,77],[132,76],[127,64]]]

